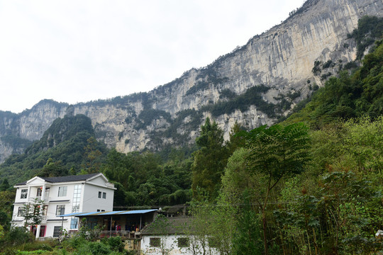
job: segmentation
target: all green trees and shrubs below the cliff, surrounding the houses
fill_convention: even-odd
[[[219,254],[382,254],[382,239],[374,237],[383,229],[382,67],[378,41],[362,67],[329,79],[283,123],[241,132],[236,124],[228,142],[207,118],[191,157],[174,148],[165,156],[107,150],[87,119],[57,120],[27,154],[0,167],[1,251],[32,243],[28,233],[10,229],[10,183],[34,174],[101,171],[115,183],[116,208],[191,200],[190,242],[199,242],[204,254],[207,244]],[[184,116],[201,118],[184,111],[177,121]],[[90,243],[81,235],[62,246],[72,254],[126,252],[118,239]]]

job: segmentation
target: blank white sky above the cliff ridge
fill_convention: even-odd
[[[0,0],[0,110],[150,91],[279,24],[304,0]]]

